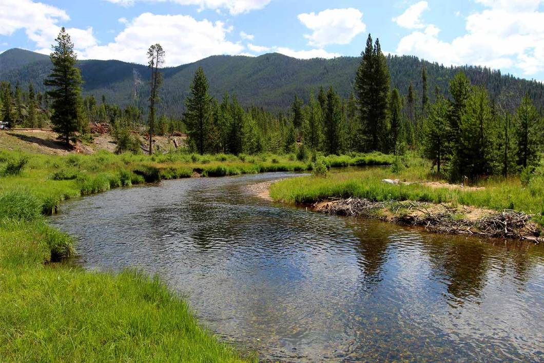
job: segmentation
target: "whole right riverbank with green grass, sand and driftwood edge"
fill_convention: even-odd
[[[379,168],[300,177],[273,184],[270,195],[318,212],[423,226],[432,232],[544,242],[542,177],[526,187],[510,178],[461,188],[425,181],[424,170],[415,167],[400,176]],[[404,182],[392,182],[399,177]]]

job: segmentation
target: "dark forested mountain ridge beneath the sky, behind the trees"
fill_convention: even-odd
[[[195,63],[167,67],[162,70],[164,84],[161,90],[161,108],[171,115],[180,115],[189,84],[197,67],[202,66],[208,77],[210,93],[221,99],[225,92],[236,94],[244,106],[255,104],[268,110],[287,110],[296,94],[308,100],[311,91],[332,85],[342,96],[349,96],[358,57],[301,60],[278,53],[259,57],[212,56]],[[544,106],[544,85],[536,81],[502,75],[500,71],[464,66],[445,67],[411,56],[387,58],[393,87],[406,95],[410,82],[421,99],[421,70],[425,65],[429,79],[429,96],[434,99],[435,88],[448,95],[448,83],[455,73],[463,70],[473,84],[483,85],[492,98],[517,106],[527,92],[537,106]],[[34,88],[44,91],[43,79],[51,69],[51,62],[43,54],[12,49],[0,54],[0,80],[25,85],[32,81]],[[119,60],[81,60],[78,62],[84,79],[84,94],[102,95],[107,102],[120,106],[139,103],[145,107],[149,93],[146,66]],[[506,102],[508,101],[508,102]]]

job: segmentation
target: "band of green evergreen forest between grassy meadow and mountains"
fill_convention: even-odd
[[[153,71],[151,66],[150,75],[160,78],[156,96],[149,97],[156,100],[151,116],[151,107],[122,108],[104,95],[100,100],[82,96],[76,62],[73,56],[73,120],[62,122],[70,124],[70,137],[75,132],[84,137],[92,122],[111,125],[119,152],[138,151],[135,132],[187,133],[187,152],[201,155],[295,153],[301,161],[316,161],[318,155],[380,151],[402,161],[407,152],[415,152],[432,161],[437,175],[455,182],[531,174],[540,162],[542,108],[535,106],[528,92],[521,98],[497,96],[496,89],[475,86],[465,71],[459,71],[447,86],[449,96],[444,96],[425,66],[419,70],[421,91],[412,83],[391,89],[388,60],[379,40],[373,42],[370,35],[348,97],[333,85],[323,84],[316,94],[310,92],[307,102],[304,95],[295,94],[291,106],[278,112],[243,107],[236,94],[216,99],[202,67],[195,71],[188,96],[177,100],[184,106],[181,118],[160,112],[159,105],[168,95],[162,89],[163,70],[155,67]],[[13,87],[2,82],[0,95],[1,119],[11,127],[55,124],[53,91],[35,92],[32,83],[23,87],[17,82]]]

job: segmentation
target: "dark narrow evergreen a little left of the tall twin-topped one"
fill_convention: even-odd
[[[342,150],[342,106],[336,92],[329,88],[324,115],[325,152],[338,154]]]

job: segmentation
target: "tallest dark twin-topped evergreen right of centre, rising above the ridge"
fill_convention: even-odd
[[[380,41],[376,39],[372,46],[372,36],[368,34],[367,46],[355,77],[362,139],[366,139],[361,149],[384,150],[389,87],[390,75]]]

